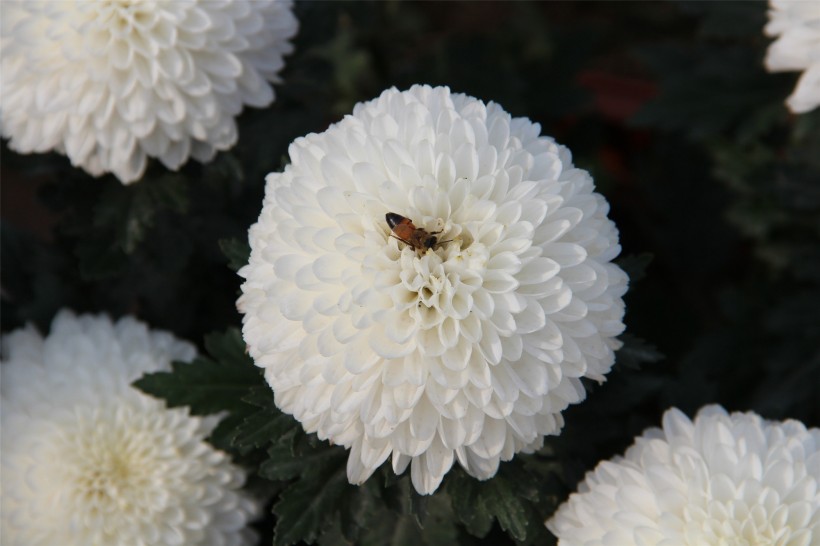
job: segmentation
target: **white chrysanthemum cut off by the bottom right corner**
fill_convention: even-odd
[[[820,542],[820,429],[677,409],[600,463],[547,522],[559,546]]]

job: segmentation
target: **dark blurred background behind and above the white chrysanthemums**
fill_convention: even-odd
[[[554,502],[670,406],[820,425],[820,110],[790,114],[798,74],[765,71],[764,2],[295,9],[275,103],[246,110],[238,145],[210,164],[153,164],[122,186],[3,142],[3,331],[46,331],[62,307],[195,343],[239,326],[235,269],[288,144],[391,86],[447,85],[568,146],[620,230],[626,345],[538,459]]]

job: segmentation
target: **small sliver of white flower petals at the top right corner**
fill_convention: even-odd
[[[770,72],[802,71],[789,109],[802,114],[820,105],[820,2],[769,0],[766,34],[777,37],[766,53]]]

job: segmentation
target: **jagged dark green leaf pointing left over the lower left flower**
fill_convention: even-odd
[[[264,379],[245,354],[236,329],[205,338],[211,360],[198,357],[191,363],[174,362],[170,372],[146,374],[134,386],[164,399],[170,407],[190,406],[194,414],[242,409],[242,397]]]

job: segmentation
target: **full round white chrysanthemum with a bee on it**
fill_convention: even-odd
[[[421,493],[455,458],[489,478],[611,368],[618,234],[539,131],[447,88],[391,89],[268,176],[245,340],[279,407],[351,448],[351,482],[391,454]]]

